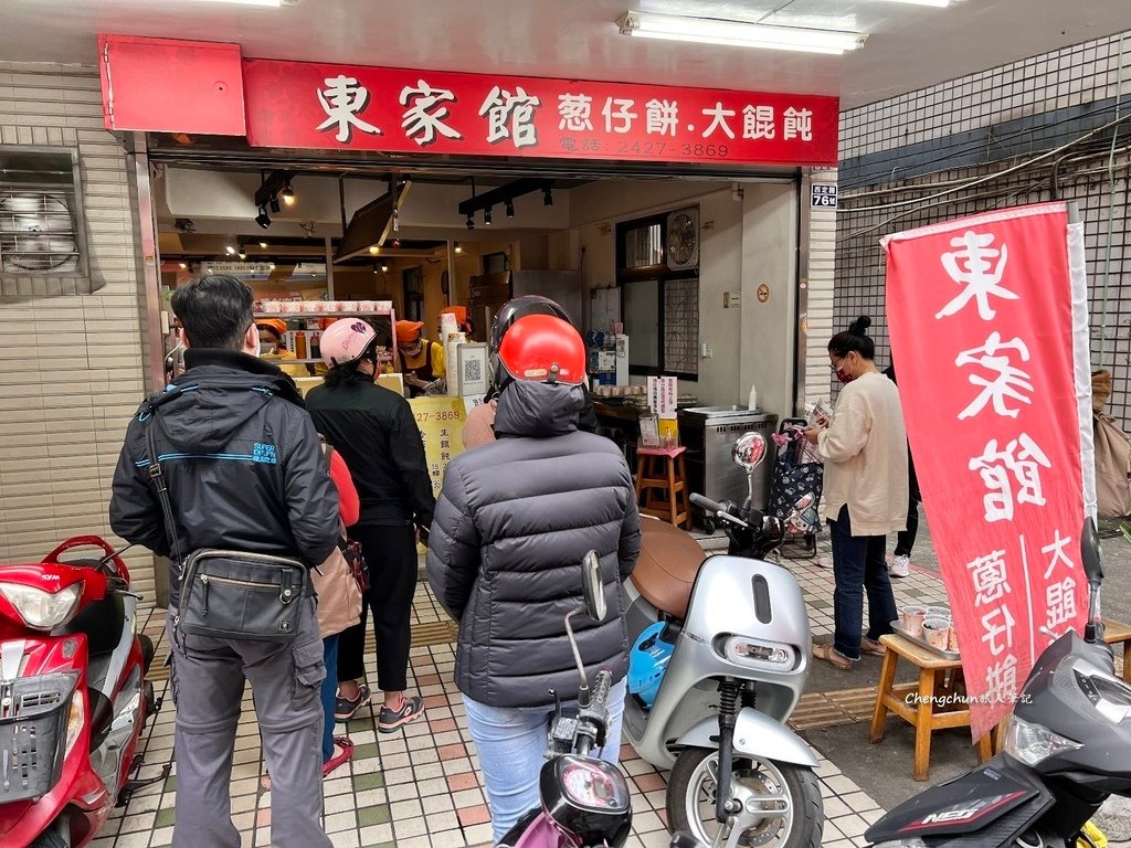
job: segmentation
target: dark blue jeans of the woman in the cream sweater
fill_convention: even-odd
[[[890,633],[899,617],[896,596],[884,561],[886,536],[853,536],[848,508],[841,507],[836,521],[829,521],[832,537],[832,617],[836,630],[832,647],[849,659],[860,659],[864,621],[864,589],[867,589],[867,638]]]

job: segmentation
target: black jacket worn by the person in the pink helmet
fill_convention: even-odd
[[[432,523],[432,478],[407,400],[355,374],[342,386],[311,389],[307,408],[318,432],[349,466],[361,500],[357,523]]]

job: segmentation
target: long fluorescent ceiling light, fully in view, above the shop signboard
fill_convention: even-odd
[[[621,35],[760,50],[795,50],[839,55],[864,44],[864,33],[809,29],[771,24],[745,24],[714,18],[689,18],[649,11],[628,11],[616,21]]]

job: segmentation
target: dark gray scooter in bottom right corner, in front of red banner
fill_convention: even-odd
[[[864,834],[875,848],[1065,848],[1112,795],[1131,796],[1131,686],[1103,641],[1096,527],[1082,534],[1083,639],[1041,655],[1013,709],[1003,752],[900,804]]]

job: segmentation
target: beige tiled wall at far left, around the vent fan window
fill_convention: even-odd
[[[0,142],[78,148],[94,294],[59,279],[0,288],[0,563],[107,534],[122,433],[145,391],[135,213],[93,69],[0,62]],[[129,557],[154,597],[152,557]]]

